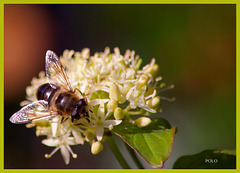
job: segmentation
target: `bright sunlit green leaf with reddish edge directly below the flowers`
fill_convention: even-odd
[[[172,149],[175,127],[165,119],[153,119],[146,127],[138,128],[132,123],[121,123],[114,126],[112,132],[120,136],[150,166],[163,167]]]

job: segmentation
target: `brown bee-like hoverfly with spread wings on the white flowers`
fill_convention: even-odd
[[[75,93],[78,89],[72,89],[57,55],[48,50],[45,60],[45,71],[49,82],[38,88],[37,101],[13,114],[10,121],[15,124],[23,124],[57,115],[62,116],[62,121],[65,117],[71,118],[72,123],[81,117],[85,117],[89,121],[87,98],[80,98]],[[80,90],[78,91],[81,93]]]

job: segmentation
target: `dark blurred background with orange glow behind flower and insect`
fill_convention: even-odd
[[[235,29],[235,5],[5,5],[5,168],[120,168],[106,144],[96,156],[88,144],[73,147],[78,158],[68,166],[60,152],[45,159],[53,148],[34,129],[9,122],[49,49],[93,54],[109,46],[135,50],[144,65],[156,58],[163,81],[175,85],[162,95],[176,97],[159,114],[178,127],[165,168],[182,155],[235,149]]]

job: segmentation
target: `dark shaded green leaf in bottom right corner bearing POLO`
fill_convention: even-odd
[[[204,150],[195,155],[182,156],[174,169],[236,169],[236,155],[231,151]]]

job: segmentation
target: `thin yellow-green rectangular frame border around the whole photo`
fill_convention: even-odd
[[[0,171],[1,172],[112,172],[112,169],[4,169],[4,4],[236,4],[236,169],[148,169],[148,170],[139,170],[139,169],[132,169],[132,170],[124,170],[124,169],[114,169],[117,172],[142,172],[142,171],[149,171],[149,172],[213,172],[213,173],[222,173],[222,172],[238,172],[240,159],[238,158],[239,152],[239,131],[240,127],[239,124],[239,52],[238,52],[238,45],[239,45],[239,11],[240,6],[238,0],[42,0],[42,1],[31,1],[31,0],[1,0],[0,1]]]

